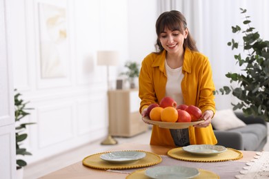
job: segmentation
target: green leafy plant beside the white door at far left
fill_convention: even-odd
[[[15,92],[17,89],[14,90]],[[28,116],[30,113],[28,110],[33,108],[28,108],[26,105],[29,102],[24,102],[23,99],[20,98],[21,94],[14,94],[14,115],[15,115],[15,130],[16,130],[16,155],[17,156],[25,156],[32,155],[26,148],[21,147],[23,140],[26,140],[28,134],[26,134],[26,126],[32,125],[34,123],[21,123],[21,119],[25,116]],[[27,162],[23,159],[17,158],[17,170],[25,167]]]

